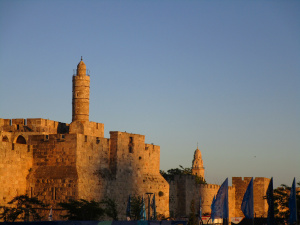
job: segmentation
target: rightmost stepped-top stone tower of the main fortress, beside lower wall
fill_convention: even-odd
[[[159,147],[145,144],[144,135],[118,131],[110,135],[110,169],[115,180],[109,186],[123,216],[129,195],[146,197],[149,192],[155,193],[157,213],[168,216],[169,185],[159,173]]]

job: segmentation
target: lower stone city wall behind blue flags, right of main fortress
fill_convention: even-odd
[[[232,187],[228,187],[229,217],[243,217],[241,204],[251,177],[232,177]],[[267,217],[268,204],[264,196],[270,182],[269,178],[256,177],[253,180],[255,217]],[[220,185],[198,184],[192,175],[175,175],[170,184],[170,215],[184,217],[189,215],[192,200],[196,213],[199,212],[201,196],[202,214],[211,213],[213,197],[217,195]]]

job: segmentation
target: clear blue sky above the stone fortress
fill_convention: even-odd
[[[161,169],[300,181],[300,1],[0,0],[0,117],[90,120],[146,135]],[[231,180],[231,179],[230,179]]]

